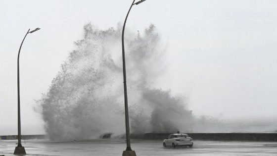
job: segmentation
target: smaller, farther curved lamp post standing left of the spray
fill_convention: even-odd
[[[18,144],[15,147],[14,155],[26,155],[25,148],[21,145],[21,121],[20,121],[20,90],[19,90],[19,54],[22,47],[22,44],[26,38],[26,36],[30,33],[40,30],[40,28],[36,28],[35,30],[27,31],[25,37],[23,38],[17,56],[17,130],[18,130]],[[30,31],[30,32],[29,32]]]

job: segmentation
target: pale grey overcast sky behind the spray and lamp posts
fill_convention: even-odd
[[[123,23],[132,0],[1,0],[0,135],[17,134],[20,55],[22,134],[43,133],[35,101],[82,39],[83,26]],[[277,118],[276,0],[146,0],[128,29],[153,23],[167,45],[168,70],[155,86],[188,98],[195,115],[223,120]]]

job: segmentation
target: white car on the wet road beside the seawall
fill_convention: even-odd
[[[175,148],[177,146],[188,146],[191,148],[192,145],[192,138],[190,138],[187,134],[184,133],[171,134],[168,137],[166,137],[163,142],[164,147],[172,146]]]

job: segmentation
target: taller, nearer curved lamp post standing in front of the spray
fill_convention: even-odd
[[[130,13],[130,10],[133,5],[138,5],[139,3],[143,2],[145,0],[140,0],[135,3],[135,0],[133,0],[132,5],[127,13],[127,16],[125,18],[124,24],[123,24],[123,30],[122,30],[122,61],[123,61],[123,84],[124,84],[124,104],[125,104],[125,127],[126,127],[126,142],[127,142],[127,148],[126,151],[123,151],[122,156],[136,156],[135,151],[132,151],[131,149],[131,143],[130,143],[130,126],[129,126],[129,112],[128,112],[128,98],[127,98],[127,84],[126,84],[126,66],[125,66],[125,51],[124,51],[124,30],[126,21],[128,18],[128,15]]]

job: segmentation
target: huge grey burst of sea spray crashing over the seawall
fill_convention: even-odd
[[[88,139],[125,133],[121,25],[84,26],[84,39],[37,101],[50,139]],[[199,131],[184,97],[152,86],[165,72],[165,46],[154,25],[143,35],[126,30],[126,66],[132,133]],[[198,129],[198,130],[197,130]]]

